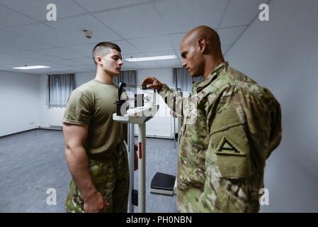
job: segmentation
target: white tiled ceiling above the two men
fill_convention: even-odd
[[[0,70],[47,65],[35,74],[95,70],[91,51],[112,41],[123,57],[177,55],[177,60],[124,62],[123,69],[181,67],[179,45],[191,28],[220,34],[225,53],[259,13],[263,0],[1,0]],[[47,4],[57,21],[47,21]],[[83,29],[93,33],[85,38]]]

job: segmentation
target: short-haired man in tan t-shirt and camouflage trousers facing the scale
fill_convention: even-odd
[[[113,121],[123,60],[114,43],[93,49],[95,79],[76,88],[63,118],[65,153],[72,174],[67,212],[127,212],[129,171],[125,123]],[[135,165],[135,169],[137,169]]]

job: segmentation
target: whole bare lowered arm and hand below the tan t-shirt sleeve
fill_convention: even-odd
[[[91,179],[89,160],[84,148],[88,131],[88,125],[64,123],[65,155],[69,171],[84,199],[85,212],[99,212],[106,209],[106,202],[101,193],[96,190]]]

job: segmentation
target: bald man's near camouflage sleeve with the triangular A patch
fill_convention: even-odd
[[[280,106],[267,89],[228,87],[217,106],[209,108],[210,141],[198,211],[257,211],[255,182],[263,181],[265,160],[280,142]]]

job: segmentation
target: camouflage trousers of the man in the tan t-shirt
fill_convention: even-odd
[[[103,159],[89,157],[89,169],[93,184],[108,203],[105,212],[127,212],[129,167],[124,143],[118,145],[117,152],[106,155]],[[73,179],[65,209],[68,213],[84,213],[84,199]]]

